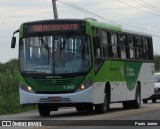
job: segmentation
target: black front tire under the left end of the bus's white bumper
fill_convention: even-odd
[[[51,110],[48,105],[38,104],[38,111],[40,116],[49,116]]]

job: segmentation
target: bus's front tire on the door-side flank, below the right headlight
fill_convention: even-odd
[[[107,109],[108,107],[109,107],[109,98],[107,97],[107,94],[105,94],[104,103],[96,104],[95,111],[98,114],[103,114],[109,110]]]

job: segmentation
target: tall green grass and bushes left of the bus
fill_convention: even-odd
[[[19,103],[18,60],[0,63],[0,114],[23,111]]]

